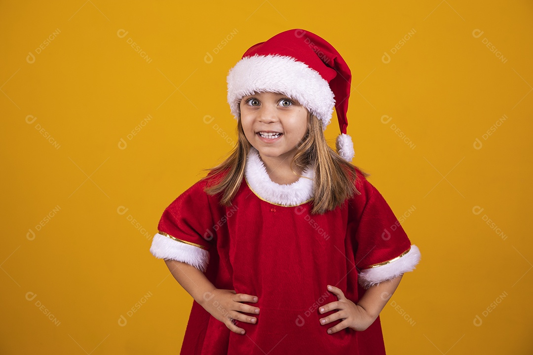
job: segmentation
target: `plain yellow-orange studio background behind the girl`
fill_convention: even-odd
[[[412,211],[387,351],[531,354],[533,5],[439,1],[2,2],[0,353],[179,351],[192,299],[151,236],[231,149],[228,70],[304,28],[352,70],[353,162]]]

